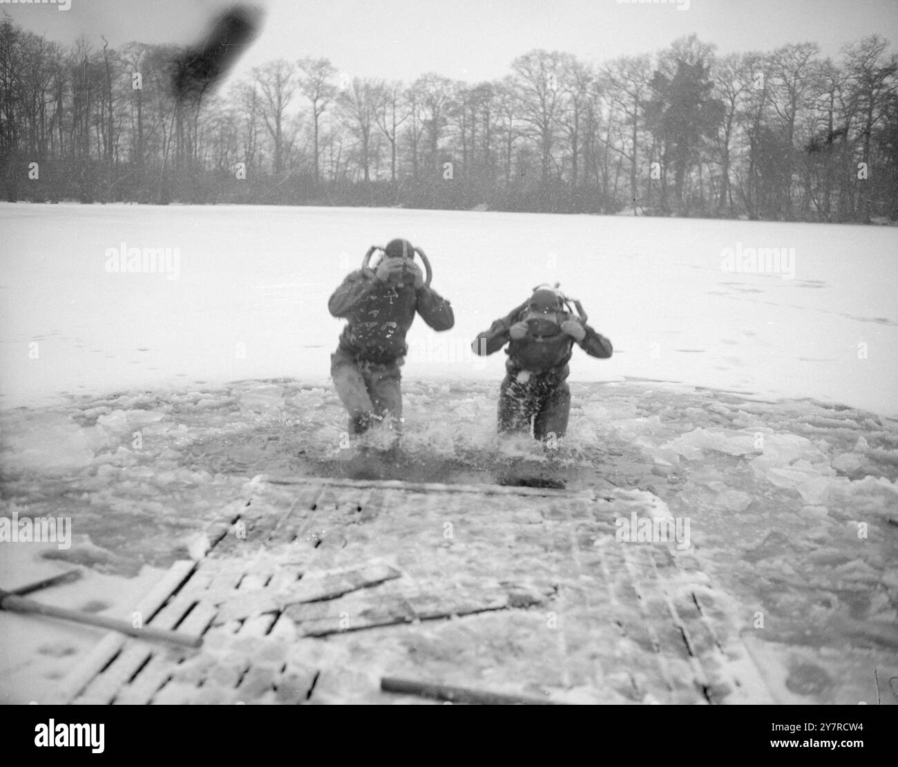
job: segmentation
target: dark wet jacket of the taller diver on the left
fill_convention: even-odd
[[[411,282],[398,287],[361,269],[352,272],[330,296],[328,309],[348,322],[339,338],[339,348],[353,357],[378,365],[389,365],[409,350],[405,334],[415,312],[435,331],[448,331],[455,324],[452,306],[436,290]]]

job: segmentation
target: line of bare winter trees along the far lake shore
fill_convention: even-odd
[[[495,81],[278,59],[178,97],[182,49],[0,23],[0,195],[898,220],[898,57],[870,35],[601,65],[532,50]]]

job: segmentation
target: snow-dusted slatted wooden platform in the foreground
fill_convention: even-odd
[[[119,704],[418,702],[381,691],[399,677],[555,702],[772,700],[697,560],[616,540],[631,491],[485,489],[256,478],[149,622],[203,647],[107,642],[101,671],[63,689]]]

